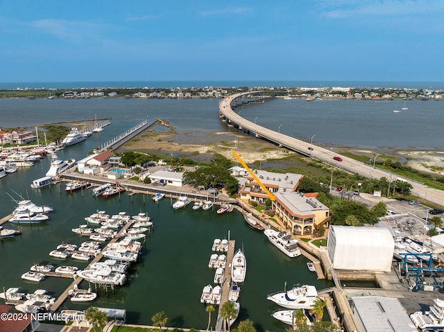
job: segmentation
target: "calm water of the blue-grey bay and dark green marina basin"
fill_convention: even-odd
[[[34,126],[59,121],[112,118],[111,125],[103,132],[94,134],[87,141],[60,151],[62,159],[80,159],[89,150],[100,146],[131,126],[147,119],[164,119],[178,130],[179,140],[194,143],[210,132],[237,132],[222,123],[218,114],[218,100],[0,100],[0,127]],[[273,130],[288,135],[300,135],[316,143],[338,146],[436,148],[442,149],[443,102],[407,101],[409,110],[395,114],[395,101],[286,101],[276,99],[263,105],[247,105],[237,109],[241,116],[256,121]],[[403,102],[398,102],[398,110]],[[203,121],[205,119],[205,121]],[[281,126],[282,125],[282,126]],[[280,128],[279,128],[280,127]],[[427,130],[425,130],[427,128]],[[193,134],[189,134],[193,132]],[[314,136],[316,135],[316,136]],[[232,136],[232,134],[230,134]],[[220,139],[216,138],[216,139]],[[55,185],[32,190],[32,180],[44,176],[49,168],[49,158],[35,166],[22,169],[0,180],[0,216],[6,216],[15,207],[9,193],[17,199],[17,192],[36,204],[55,208],[51,220],[43,225],[24,226],[23,234],[0,243],[0,285],[6,288],[18,286],[34,291],[46,288],[60,295],[71,281],[47,279],[43,283],[22,281],[20,275],[33,263],[51,261],[71,264],[70,260],[56,261],[49,251],[65,242],[79,244],[80,238],[71,232],[84,222],[83,218],[96,210],[108,213],[127,211],[134,215],[148,213],[155,221],[155,232],[146,242],[143,260],[130,272],[128,285],[117,288],[114,295],[99,291],[95,306],[125,308],[127,321],[150,324],[151,316],[165,311],[169,326],[205,328],[207,313],[199,302],[200,292],[212,283],[214,272],[207,268],[214,238],[231,238],[237,247],[244,247],[248,259],[246,283],[241,286],[240,320],[249,318],[264,331],[283,331],[286,326],[270,317],[278,306],[266,300],[270,292],[282,290],[287,281],[311,283],[318,288],[330,283],[317,281],[308,272],[306,260],[288,259],[266,237],[249,229],[240,213],[234,211],[225,216],[215,212],[187,210],[173,211],[168,198],[154,204],[142,195],[121,195],[108,200],[94,199],[90,192],[67,195],[63,186]],[[13,227],[6,223],[6,227]],[[76,262],[80,268],[86,264]],[[83,288],[87,284],[82,285]],[[69,308],[86,308],[88,305],[72,305]],[[213,316],[213,321],[216,315]]]

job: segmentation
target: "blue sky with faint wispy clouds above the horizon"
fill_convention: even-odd
[[[443,0],[0,0],[0,82],[443,81]]]

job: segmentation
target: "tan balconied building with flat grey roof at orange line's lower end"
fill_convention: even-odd
[[[316,199],[317,193],[278,191],[274,193],[275,218],[297,235],[314,234],[320,227],[328,227],[330,209]]]

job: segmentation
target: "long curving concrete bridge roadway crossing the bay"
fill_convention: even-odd
[[[395,181],[398,178],[398,175],[383,171],[379,168],[373,168],[368,164],[364,164],[361,161],[357,161],[349,157],[341,156],[342,161],[336,161],[333,159],[333,157],[338,156],[338,154],[332,150],[321,148],[320,146],[314,146],[314,144],[300,141],[299,139],[282,134],[279,131],[275,132],[274,130],[262,127],[261,125],[257,125],[256,123],[242,118],[239,116],[239,114],[232,110],[232,105],[238,106],[248,103],[248,101],[242,101],[243,98],[246,100],[247,98],[251,98],[253,100],[253,98],[261,98],[267,94],[268,92],[266,91],[250,91],[228,96],[220,101],[219,113],[228,123],[237,126],[239,130],[253,132],[258,138],[264,138],[277,144],[278,146],[293,150],[302,155],[306,155],[307,157],[316,158],[336,168],[340,168],[343,171],[374,179],[386,177],[388,181]],[[309,150],[309,148],[313,148],[313,150]],[[425,198],[429,202],[433,202],[434,204],[444,207],[444,191],[429,188],[422,183],[409,180],[404,177],[402,177],[402,179],[406,180],[413,186],[413,189],[411,189],[412,195]]]

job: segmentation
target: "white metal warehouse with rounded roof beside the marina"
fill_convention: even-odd
[[[327,252],[334,269],[390,271],[394,241],[384,227],[330,226]]]

